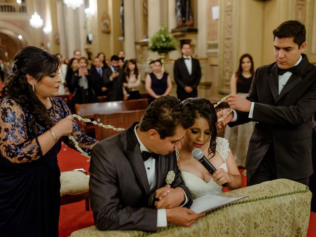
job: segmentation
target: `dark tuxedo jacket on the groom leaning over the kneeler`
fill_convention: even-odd
[[[100,230],[156,231],[157,209],[148,206],[150,186],[134,123],[127,130],[98,142],[91,155],[90,198],[95,225]],[[172,188],[182,188],[192,204],[180,176],[175,152],[156,159],[157,189],[166,185],[173,170]]]

